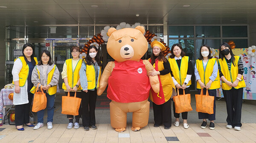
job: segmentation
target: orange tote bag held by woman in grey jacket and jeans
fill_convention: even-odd
[[[38,84],[39,85],[39,84]],[[45,93],[42,90],[42,86],[40,87],[41,92],[38,90],[38,86],[36,87],[36,92],[34,94],[32,112],[38,112],[46,108],[47,106],[47,98]]]

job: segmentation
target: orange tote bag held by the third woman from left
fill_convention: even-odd
[[[78,110],[81,104],[81,98],[75,96],[72,97],[70,96],[70,93],[67,93],[67,96],[62,96],[62,114],[67,114],[67,115],[79,115]]]

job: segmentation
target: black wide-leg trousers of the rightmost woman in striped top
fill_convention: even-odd
[[[222,91],[227,105],[227,124],[241,127],[243,88]]]

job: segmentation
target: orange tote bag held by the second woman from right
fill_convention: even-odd
[[[208,114],[213,114],[213,104],[214,96],[210,96],[208,90],[206,90],[206,95],[203,94],[203,89],[201,89],[201,94],[195,95],[196,101],[196,111]]]

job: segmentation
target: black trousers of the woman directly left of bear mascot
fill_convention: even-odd
[[[95,121],[95,108],[97,99],[97,89],[82,91],[82,121],[83,126],[93,126]]]

